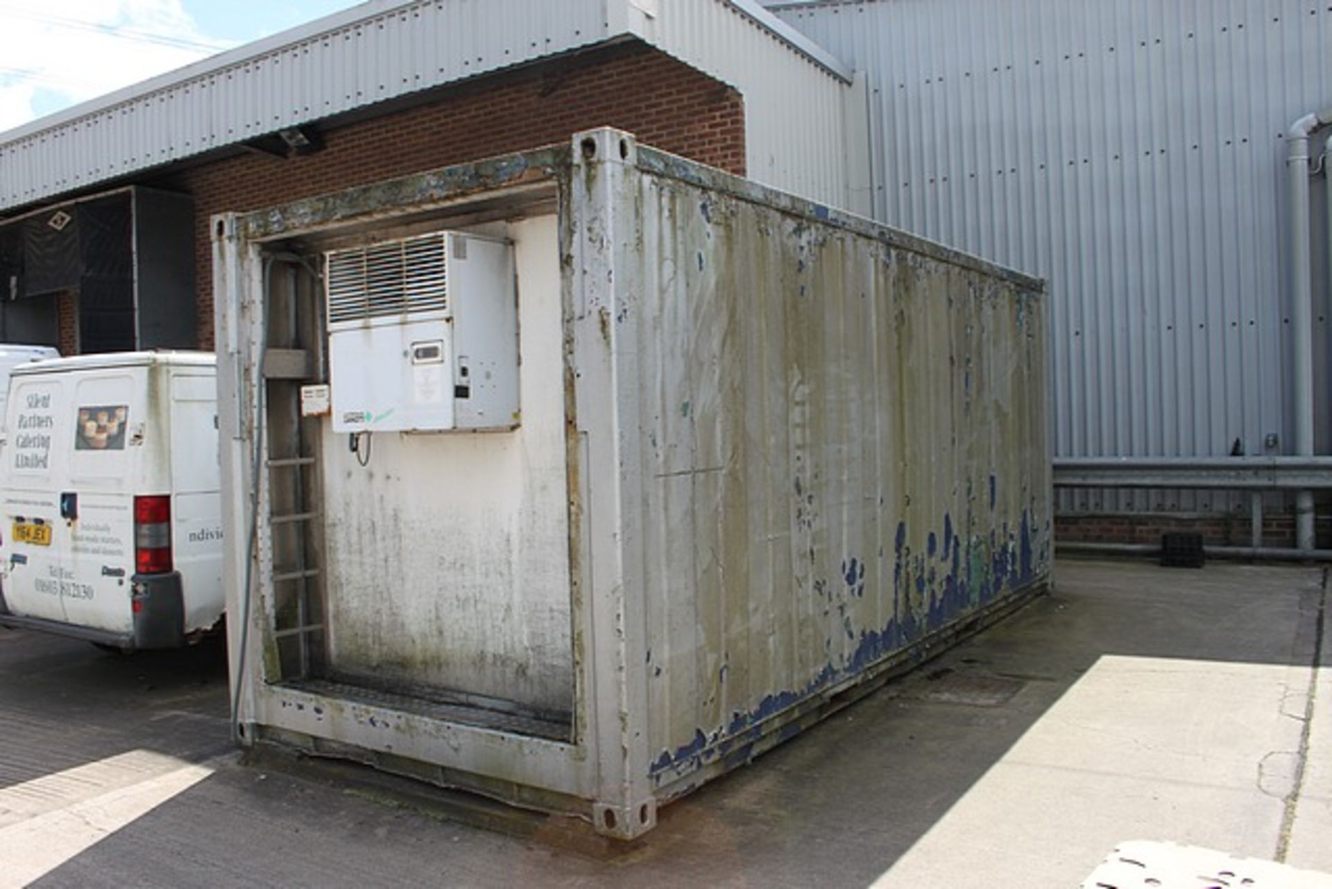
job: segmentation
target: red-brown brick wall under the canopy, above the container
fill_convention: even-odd
[[[321,131],[322,151],[244,153],[149,184],[194,197],[198,343],[213,348],[208,220],[618,127],[642,143],[745,175],[741,95],[643,44],[627,44],[478,79],[425,105]]]

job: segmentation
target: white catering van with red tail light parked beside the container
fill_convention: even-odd
[[[218,477],[213,355],[16,367],[0,446],[0,624],[127,652],[212,629]]]

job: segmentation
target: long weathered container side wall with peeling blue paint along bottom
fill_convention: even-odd
[[[942,249],[635,181],[625,582],[645,590],[667,788],[1047,578],[1044,299]]]

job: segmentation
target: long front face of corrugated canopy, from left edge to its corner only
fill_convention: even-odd
[[[389,5],[389,4],[385,4]],[[326,27],[332,23],[334,27]],[[605,4],[357,7],[7,133],[0,208],[603,40]]]

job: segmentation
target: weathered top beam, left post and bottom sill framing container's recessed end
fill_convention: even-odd
[[[214,217],[214,292],[220,295],[218,377],[221,412],[226,415],[221,420],[224,488],[232,492],[224,497],[228,526],[237,526],[236,517],[244,517],[249,510],[248,492],[252,480],[245,454],[252,443],[246,435],[244,415],[246,405],[253,411],[254,389],[242,377],[242,372],[246,367],[254,367],[257,351],[246,339],[253,331],[246,328],[242,307],[246,292],[261,291],[258,269],[262,244],[306,235],[326,236],[344,228],[364,229],[389,221],[410,221],[453,209],[465,212],[468,207],[497,193],[521,199],[523,193],[533,192],[535,196],[538,192],[549,192],[553,185],[558,187],[569,169],[569,149],[561,145],[430,171],[266,211]],[[242,280],[246,271],[248,281]],[[585,473],[586,469],[587,464],[583,462]],[[265,508],[266,504],[261,504],[261,516]],[[244,550],[248,541],[229,542],[224,580],[228,589],[236,590],[244,577]],[[268,577],[262,565],[256,568],[256,574],[265,580]],[[250,620],[253,638],[262,638],[265,622],[272,626],[272,616],[264,621],[258,608],[254,608]],[[228,633],[234,684],[238,662],[237,622],[229,624]],[[249,645],[248,676],[265,676],[261,672],[258,648],[258,644]],[[585,688],[593,670],[591,658],[586,660],[589,662],[579,672]],[[468,786],[519,805],[530,805],[539,796],[546,808],[586,812],[581,808],[586,804],[575,801],[595,796],[597,764],[589,756],[593,744],[590,736],[579,736],[575,744],[566,744],[509,734],[390,708],[352,705],[300,689],[252,684],[248,680],[244,692],[238,709],[246,725],[242,738],[245,744],[252,744],[256,737],[304,737],[309,740],[312,749],[320,748],[324,738],[328,738],[328,744],[364,746],[368,756],[417,762],[424,770],[418,777],[425,772],[437,772],[436,778],[426,776],[426,780]],[[583,696],[585,692],[579,692],[579,697]],[[591,725],[589,710],[590,708],[581,708],[575,712],[575,724]],[[497,773],[496,762],[505,764],[502,774]],[[392,770],[402,772],[401,764]]]

